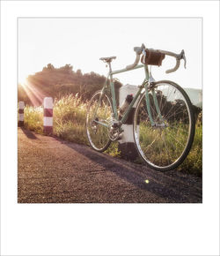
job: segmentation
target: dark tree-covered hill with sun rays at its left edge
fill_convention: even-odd
[[[28,76],[26,85],[18,85],[18,101],[28,105],[39,106],[46,96],[61,99],[67,94],[77,94],[84,101],[103,87],[105,76],[90,72],[83,74],[81,70],[73,71],[70,64],[55,68],[48,64],[41,72]],[[114,82],[116,95],[121,87],[119,81]]]

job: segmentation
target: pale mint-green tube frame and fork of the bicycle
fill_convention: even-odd
[[[150,110],[150,98],[149,98],[149,92],[148,92],[148,86],[149,86],[149,79],[150,79],[150,73],[149,73],[149,70],[148,70],[148,66],[147,65],[144,65],[144,64],[139,64],[139,65],[136,65],[136,67],[132,68],[132,69],[122,69],[122,70],[118,70],[118,71],[112,71],[112,67],[111,67],[111,63],[109,63],[109,73],[107,75],[107,78],[106,78],[106,83],[104,85],[104,87],[102,88],[102,94],[105,92],[106,90],[106,87],[107,87],[107,80],[110,79],[110,90],[111,90],[111,94],[112,94],[112,99],[113,99],[113,112],[114,112],[114,119],[115,120],[119,120],[119,115],[118,115],[118,112],[117,112],[117,107],[116,107],[116,98],[115,98],[115,91],[114,91],[114,81],[113,81],[113,75],[114,74],[118,74],[118,73],[121,73],[121,72],[129,72],[129,71],[132,71],[132,70],[136,70],[136,69],[140,69],[140,68],[144,68],[144,71],[145,71],[145,79],[143,80],[143,83],[141,86],[139,86],[139,90],[137,91],[135,97],[133,98],[132,102],[130,102],[129,104],[129,107],[128,109],[126,110],[126,112],[124,113],[124,115],[122,116],[121,118],[121,124],[125,124],[127,118],[128,118],[128,115],[129,115],[129,112],[130,110],[133,108],[137,98],[139,97],[139,95],[141,94],[143,88],[145,88],[145,97],[146,97],[146,106],[147,106],[147,110],[148,110],[148,114],[149,114],[149,117],[150,117],[150,124],[151,125],[155,125],[154,121],[153,121],[153,118],[152,118],[152,115],[151,115],[151,110]],[[158,112],[158,117],[160,118],[160,120],[163,120],[162,116],[161,116],[161,113],[160,113],[160,110],[158,108],[158,99],[157,99],[157,96],[154,92],[154,89],[152,89],[152,95],[153,95],[153,100],[154,100],[154,103],[155,103],[155,106],[156,106],[156,109],[157,109],[157,112]],[[95,111],[96,113],[96,111]],[[95,114],[96,115],[96,114]],[[99,123],[99,122],[97,122]]]

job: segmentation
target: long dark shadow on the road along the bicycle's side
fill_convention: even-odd
[[[111,171],[129,184],[134,184],[172,203],[202,203],[202,179],[183,174],[180,171],[158,172],[142,164],[117,159],[107,154],[94,151],[90,147],[64,142],[65,146],[77,151],[78,154],[101,165],[106,171]],[[145,181],[149,180],[149,183]]]

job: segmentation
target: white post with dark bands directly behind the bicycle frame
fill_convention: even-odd
[[[138,87],[132,85],[125,85],[119,90],[119,105],[121,106],[122,102],[126,99],[128,94],[136,95],[138,91]],[[138,156],[135,140],[133,137],[133,117],[136,109],[136,103],[131,109],[128,119],[125,124],[122,124],[121,128],[124,132],[122,132],[121,139],[119,139],[119,147],[118,149],[121,151],[121,156],[128,160],[135,160]]]

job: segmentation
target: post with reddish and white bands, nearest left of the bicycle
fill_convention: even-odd
[[[43,132],[50,135],[53,134],[53,98],[46,97],[43,100],[44,117],[43,117]]]

